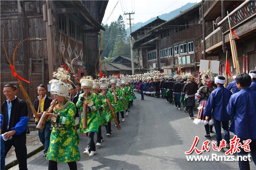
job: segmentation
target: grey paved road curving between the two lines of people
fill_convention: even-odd
[[[199,137],[198,149],[206,140],[204,127],[194,125],[188,113],[175,109],[173,104],[166,103],[164,99],[145,96],[143,101],[139,94],[136,96],[138,99],[134,101],[129,115],[125,116],[125,121],[121,122],[120,131],[114,127],[112,136],[106,137],[106,130],[102,127],[102,146],[96,148],[93,157],[82,154],[87,139],[81,139],[78,169],[238,169],[238,162],[234,161],[187,161],[184,152],[190,149],[195,136]],[[231,133],[230,137],[233,136]],[[215,135],[211,140],[216,140]],[[210,152],[201,155],[212,153],[224,155],[212,151],[212,147]],[[251,169],[256,168],[252,161],[250,165]],[[42,153],[28,159],[29,170],[47,167],[48,161]],[[58,168],[66,170],[68,165],[58,164]],[[17,166],[13,169],[17,169]]]

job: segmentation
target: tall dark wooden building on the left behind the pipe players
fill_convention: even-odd
[[[53,70],[63,65],[60,57],[60,46],[65,49],[64,61],[78,57],[74,62],[74,74],[81,77],[85,74],[94,76],[94,65],[98,58],[98,32],[104,30],[101,22],[108,0],[54,0],[54,1],[1,1],[1,31],[4,27],[4,39],[9,59],[19,41],[27,37],[39,39],[25,41],[18,49],[15,58],[16,72],[30,81],[22,82],[32,102],[36,99],[36,87],[48,84],[49,60],[47,51],[46,22],[44,22],[43,5],[48,3],[48,14],[52,14],[52,62]],[[60,35],[61,42],[60,42]],[[1,32],[1,43],[3,42]],[[63,43],[62,43],[63,42]],[[74,51],[74,55],[70,52]],[[71,57],[70,57],[71,56]],[[17,83],[12,76],[10,66],[1,44],[1,91],[4,84]],[[74,79],[73,79],[74,80]],[[19,89],[19,88],[18,88]],[[49,93],[48,93],[49,95]],[[18,98],[24,99],[20,89]],[[1,102],[5,97],[1,95]],[[30,112],[30,118],[32,112]]]

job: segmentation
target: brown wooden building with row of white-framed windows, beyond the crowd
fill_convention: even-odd
[[[178,16],[153,27],[147,32],[144,41],[134,43],[134,46],[144,49],[140,53],[142,69],[172,69],[174,74],[178,66],[181,66],[182,72],[191,72],[198,77],[199,63],[202,59],[200,6],[201,3],[198,3],[180,12]],[[209,24],[207,26],[210,27]]]

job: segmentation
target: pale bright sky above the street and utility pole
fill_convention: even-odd
[[[109,0],[102,23],[110,25],[112,21],[116,21],[119,15],[123,16],[126,28],[129,27],[129,15],[124,13],[132,13],[132,23],[145,22],[150,18],[160,16],[176,10],[188,2],[200,2],[201,0]],[[116,6],[116,7],[115,7]]]

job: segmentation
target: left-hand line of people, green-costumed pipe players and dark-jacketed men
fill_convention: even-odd
[[[124,121],[124,114],[128,115],[136,96],[129,77],[119,79],[111,76],[93,80],[91,76],[87,76],[73,84],[63,68],[58,68],[58,72],[53,74],[55,79],[49,82],[53,99],[46,95],[47,88],[44,84],[37,87],[38,97],[34,100],[34,108],[38,113],[35,118],[43,117],[44,113],[48,115],[38,136],[44,145],[43,156],[49,160],[49,170],[58,169],[58,162],[67,162],[71,170],[76,170],[76,161],[80,160],[78,133],[88,137],[83,154],[94,156],[96,146],[100,147],[103,141],[101,127],[106,127],[106,136],[111,137],[111,121],[116,119],[116,126],[120,127],[119,114],[121,113],[121,121]],[[12,146],[15,147],[19,169],[26,170],[28,106],[16,96],[16,85],[6,84],[3,92],[7,100],[2,103],[1,110],[1,170],[4,169],[5,156]],[[76,129],[76,118],[80,123],[79,132]],[[84,121],[87,127],[84,127]]]

